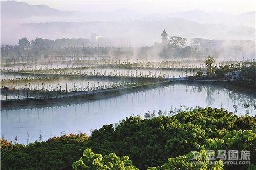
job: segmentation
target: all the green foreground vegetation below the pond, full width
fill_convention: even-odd
[[[139,116],[85,134],[29,145],[1,140],[3,169],[255,169],[256,118],[196,108],[173,116]],[[210,164],[206,150],[250,151],[250,165]],[[201,154],[193,164],[195,152]],[[98,154],[94,154],[98,153]],[[103,155],[105,155],[103,157]]]

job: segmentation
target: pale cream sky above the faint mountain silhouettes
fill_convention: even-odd
[[[113,11],[120,8],[148,13],[171,13],[189,10],[240,14],[255,11],[255,0],[171,0],[171,1],[22,1],[33,5],[46,4],[60,10],[83,12]]]

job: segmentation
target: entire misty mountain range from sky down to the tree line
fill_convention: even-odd
[[[23,37],[89,38],[90,33],[96,32],[107,38],[124,38],[120,45],[145,46],[160,42],[163,28],[169,36],[255,40],[255,27],[250,27],[255,23],[255,11],[241,15],[200,10],[143,15],[127,9],[62,11],[47,5],[8,1],[1,2],[1,14],[1,44],[17,44]]]

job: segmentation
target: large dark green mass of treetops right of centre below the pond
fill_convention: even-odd
[[[93,131],[88,145],[103,155],[128,155],[139,169],[160,166],[169,157],[199,151],[202,146],[211,149],[215,145],[211,143],[212,140],[223,141],[222,145],[216,144],[216,150],[236,147],[250,150],[251,160],[255,160],[256,138],[251,135],[255,134],[255,120],[249,116],[232,116],[223,109],[212,108],[184,111],[172,117],[144,120],[129,117],[115,129],[113,125],[106,125]]]

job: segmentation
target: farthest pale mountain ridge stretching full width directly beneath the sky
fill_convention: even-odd
[[[220,12],[206,13],[201,10],[191,10],[175,12],[169,14],[149,14],[143,15],[133,10],[125,8],[111,12],[81,12],[81,11],[62,11],[50,8],[47,5],[30,5],[24,2],[6,1],[1,2],[2,19],[24,19],[24,23],[40,22],[40,17],[48,18],[53,21],[121,21],[121,20],[152,20],[168,17],[177,17],[198,23],[236,23],[250,27],[255,27],[255,11],[242,13],[240,15],[224,14]],[[58,19],[56,17],[59,17]],[[36,19],[37,20],[36,20]],[[63,19],[66,20],[63,20]],[[42,18],[41,18],[42,19]],[[250,21],[250,22],[249,22]],[[46,20],[42,20],[46,22]]]

